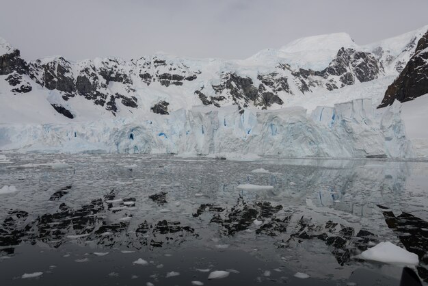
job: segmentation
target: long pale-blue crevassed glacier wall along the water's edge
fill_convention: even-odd
[[[0,125],[3,151],[413,157],[400,106],[371,99],[276,110],[193,107],[170,115],[71,124]]]

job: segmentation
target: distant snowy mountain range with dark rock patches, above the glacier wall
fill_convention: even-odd
[[[10,114],[10,109],[18,111],[16,105],[30,101],[30,96],[34,109],[23,116],[34,114],[33,121],[55,122],[58,116],[81,121],[169,114],[196,105],[237,105],[243,112],[247,107],[290,106],[293,99],[317,102],[312,94],[396,75],[402,62],[412,57],[412,47],[423,29],[427,27],[366,46],[358,46],[345,33],[312,36],[279,50],[261,51],[247,60],[229,61],[170,55],[130,61],[115,57],[26,61],[20,51],[0,40],[0,96],[8,96],[1,101],[5,106],[0,111],[5,110],[0,112],[0,122],[18,120],[4,114]],[[18,98],[19,94],[25,98]],[[340,102],[343,100],[336,96],[332,104]],[[43,116],[38,115],[41,110]]]

